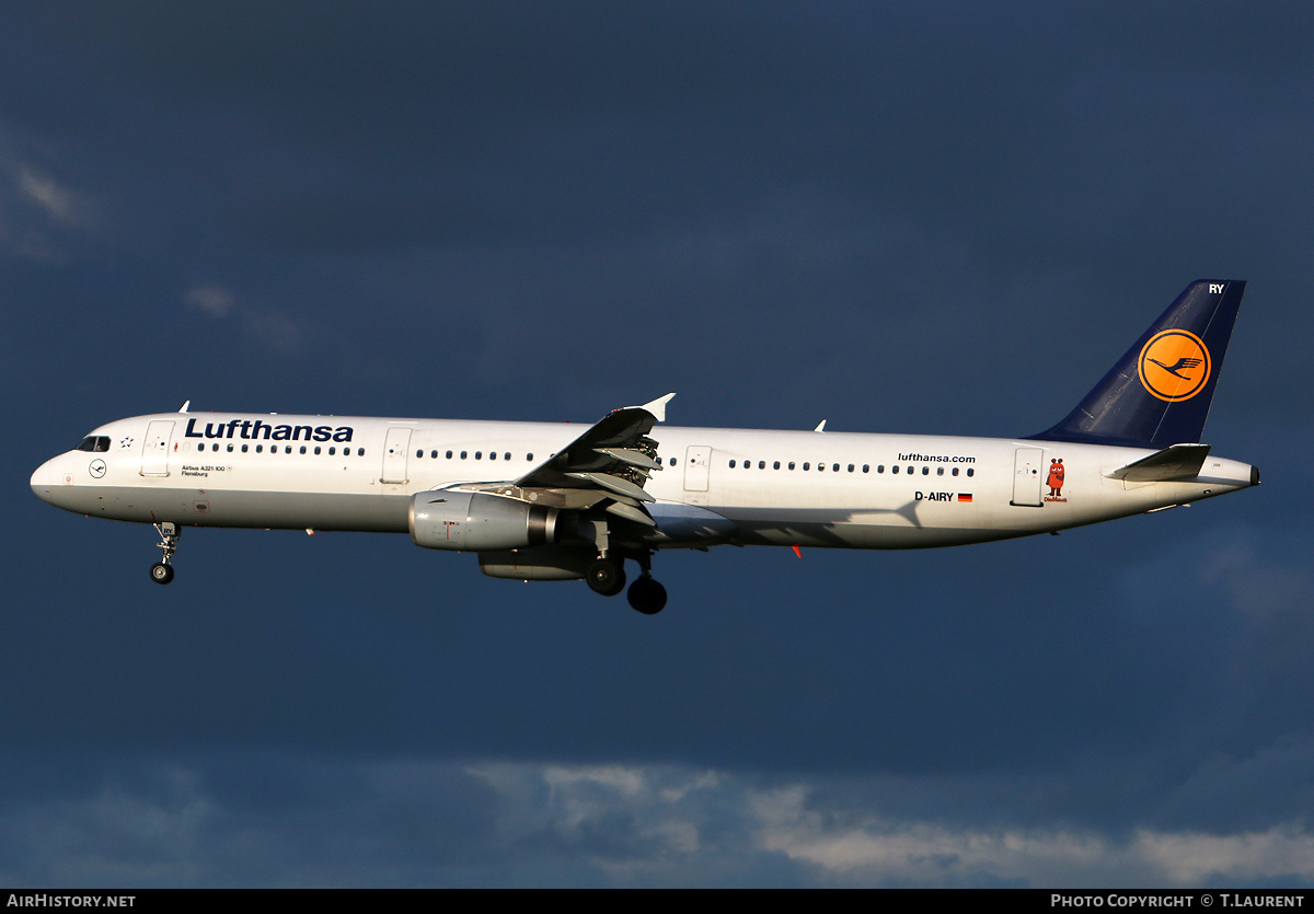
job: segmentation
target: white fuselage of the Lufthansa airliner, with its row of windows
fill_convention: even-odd
[[[359,416],[158,414],[92,432],[32,477],[68,511],[198,527],[407,532],[418,491],[516,479],[586,425]],[[712,512],[706,542],[909,549],[1058,531],[1254,485],[1208,457],[1184,482],[1109,474],[1150,449],[1028,439],[657,425],[664,519]],[[1060,486],[1051,470],[1062,461]],[[682,515],[685,512],[685,515]],[[662,544],[657,544],[662,545]],[[700,545],[687,533],[665,545]]]

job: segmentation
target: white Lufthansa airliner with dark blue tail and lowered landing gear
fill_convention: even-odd
[[[666,605],[662,549],[920,549],[1058,533],[1259,485],[1200,444],[1246,284],[1198,280],[1081,403],[1037,435],[983,439],[679,428],[666,394],[578,425],[179,412],[120,419],[37,469],[57,507],[183,528],[409,533],[494,578],[583,579]],[[802,553],[800,553],[802,554]]]

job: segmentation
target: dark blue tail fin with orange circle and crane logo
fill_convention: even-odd
[[[1163,449],[1196,444],[1246,284],[1197,280],[1043,441]]]

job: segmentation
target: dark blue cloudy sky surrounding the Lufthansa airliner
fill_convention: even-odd
[[[0,884],[1314,884],[1307,4],[0,7]],[[176,410],[1047,428],[1198,277],[1265,485],[648,619],[33,498]],[[658,436],[660,437],[660,436]]]

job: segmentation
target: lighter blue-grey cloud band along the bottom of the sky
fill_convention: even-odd
[[[116,770],[79,794],[0,798],[0,876],[135,888],[1314,881],[1314,835],[1296,819],[1126,835],[966,825],[892,814],[880,791],[837,801],[816,776],[674,766],[212,755]]]

